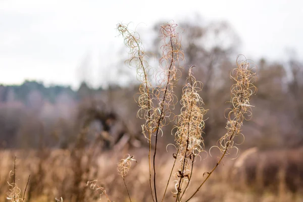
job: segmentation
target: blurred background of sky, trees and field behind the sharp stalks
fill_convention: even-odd
[[[130,23],[139,32],[145,51],[154,53],[148,62],[157,69],[159,27],[174,22],[184,29],[179,31],[186,59],[175,93],[180,98],[187,66],[196,65],[193,74],[204,83],[200,95],[209,109],[207,148],[225,134],[229,74],[237,55],[258,67],[258,93],[251,100],[256,107],[251,121],[244,122],[245,141],[239,146],[240,154],[248,156],[240,156],[245,166],[236,164],[247,189],[217,188],[231,181],[229,172],[220,171],[223,177],[218,174],[221,178],[207,190],[220,189],[222,194],[203,192],[204,199],[196,201],[303,201],[301,19],[303,3],[286,0],[0,1],[1,193],[9,189],[17,155],[20,187],[31,174],[28,200],[97,198],[85,184],[98,178],[113,198],[127,201],[111,185],[116,179],[109,175],[113,169],[106,169],[131,149],[143,161],[148,143],[141,134],[142,120],[136,118],[136,70],[124,63],[128,49],[116,24]],[[180,106],[174,110],[178,112]],[[164,155],[174,140],[173,126],[171,122],[164,129]],[[214,163],[206,162],[206,167]],[[235,168],[234,161],[228,168]],[[253,182],[258,186],[249,186]],[[144,196],[147,185],[146,190],[143,195],[132,193],[136,201],[150,200]],[[223,196],[227,193],[232,193],[229,199]]]

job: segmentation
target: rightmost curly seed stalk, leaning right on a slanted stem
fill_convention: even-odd
[[[189,201],[199,191],[201,186],[203,186],[203,184],[209,179],[212,173],[220,165],[224,156],[229,154],[230,149],[237,149],[237,147],[234,146],[234,137],[237,135],[243,136],[243,134],[240,133],[240,128],[243,124],[243,120],[251,119],[252,115],[251,107],[253,106],[249,104],[250,96],[257,92],[257,87],[252,84],[256,79],[256,73],[252,71],[254,67],[251,66],[252,64],[248,63],[246,59],[240,61],[239,56],[237,57],[237,68],[233,69],[230,76],[230,78],[235,82],[231,86],[230,90],[231,103],[233,105],[233,108],[228,109],[229,113],[226,117],[227,132],[223,137],[219,139],[218,145],[216,146],[221,151],[221,158],[213,170],[207,172],[208,175],[206,179],[186,201]]]

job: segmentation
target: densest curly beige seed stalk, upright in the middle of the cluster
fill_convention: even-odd
[[[193,77],[192,67],[189,68],[186,85],[183,87],[180,100],[181,114],[177,117],[177,131],[175,133],[178,148],[176,158],[181,163],[176,173],[178,179],[175,184],[177,199],[180,197],[182,184],[186,186],[183,193],[189,185],[194,157],[199,156],[204,148],[201,135],[205,127],[203,117],[207,111],[201,107],[204,103],[198,92],[201,90],[202,84]]]

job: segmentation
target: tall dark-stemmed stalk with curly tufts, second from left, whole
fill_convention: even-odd
[[[180,78],[180,62],[184,60],[184,54],[181,49],[181,37],[180,33],[176,31],[177,24],[164,24],[160,28],[162,41],[162,57],[160,59],[161,71],[159,72],[159,88],[155,92],[155,98],[157,99],[159,107],[154,109],[154,129],[156,131],[155,136],[155,152],[154,152],[154,189],[155,198],[157,198],[156,188],[156,154],[157,143],[159,134],[163,135],[162,127],[169,123],[171,117],[171,109],[174,109],[177,102],[177,97],[173,93],[174,85]],[[163,87],[162,87],[163,86]]]

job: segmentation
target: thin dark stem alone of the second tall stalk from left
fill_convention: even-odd
[[[157,153],[157,142],[158,142],[158,134],[159,134],[159,127],[160,127],[160,123],[162,120],[162,116],[163,116],[163,111],[164,111],[164,102],[165,102],[165,97],[166,97],[166,93],[167,93],[167,89],[168,89],[168,85],[170,82],[170,73],[171,73],[171,68],[173,66],[173,62],[174,62],[174,47],[173,47],[173,42],[172,42],[172,37],[170,37],[170,44],[171,44],[171,48],[172,48],[172,60],[169,66],[169,72],[168,72],[168,78],[167,78],[167,83],[166,83],[166,87],[165,87],[165,92],[164,92],[164,96],[163,96],[163,100],[162,100],[162,109],[161,109],[161,114],[158,120],[158,124],[157,124],[157,132],[156,132],[156,141],[155,141],[155,153],[154,153],[154,189],[155,189],[155,198],[156,201],[158,202],[157,199],[157,188],[156,188],[156,167],[155,167],[155,159],[156,159],[156,153]]]

